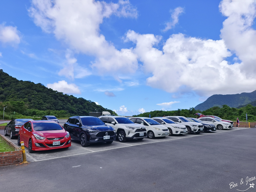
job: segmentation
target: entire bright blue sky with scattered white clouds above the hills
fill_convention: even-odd
[[[0,2],[0,68],[118,115],[255,90],[255,1]]]

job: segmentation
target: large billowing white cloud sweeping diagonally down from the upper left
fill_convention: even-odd
[[[70,49],[95,56],[91,67],[101,75],[113,75],[121,81],[116,72],[129,74],[138,68],[137,56],[131,49],[119,51],[100,34],[104,18],[111,15],[137,18],[137,10],[129,0],[119,0],[116,4],[94,0],[32,0],[29,15],[37,26],[64,40]],[[65,74],[64,71],[68,69],[64,67],[60,75]],[[70,70],[68,76],[72,77],[74,72]]]

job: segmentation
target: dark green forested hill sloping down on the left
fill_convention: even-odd
[[[0,104],[8,106],[5,110],[16,111],[22,115],[37,115],[38,111],[61,111],[70,116],[87,116],[89,112],[112,110],[97,105],[91,100],[76,98],[73,95],[48,89],[43,84],[17,80],[0,69]],[[2,108],[2,107],[1,107]]]

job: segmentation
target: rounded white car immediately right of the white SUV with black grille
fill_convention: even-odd
[[[137,124],[142,124],[147,127],[148,138],[165,137],[169,135],[169,130],[154,119],[148,117],[130,117],[130,119]]]

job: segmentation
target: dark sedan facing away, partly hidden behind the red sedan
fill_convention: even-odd
[[[12,119],[4,128],[4,136],[10,135],[11,139],[14,139],[18,136],[20,127],[28,121],[33,121],[33,119]]]

